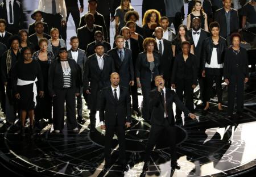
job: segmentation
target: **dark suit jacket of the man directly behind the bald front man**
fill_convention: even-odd
[[[121,61],[118,55],[118,48],[113,48],[108,51],[109,56],[114,60],[115,71],[120,76],[119,85],[129,88],[129,82],[134,81],[134,66],[133,66],[133,56],[130,49],[124,48],[125,58]]]

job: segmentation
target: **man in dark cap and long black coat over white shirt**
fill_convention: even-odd
[[[99,110],[99,94],[104,87],[110,86],[110,74],[115,71],[113,58],[104,53],[101,42],[95,45],[95,52],[85,62],[83,85],[88,96],[88,109],[90,109],[90,132],[95,132],[96,112]],[[90,82],[90,85],[89,85]]]

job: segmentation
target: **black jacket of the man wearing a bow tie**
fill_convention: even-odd
[[[191,38],[191,40],[193,40],[192,28],[188,29],[188,36]],[[198,69],[200,69],[201,67],[201,52],[203,48],[203,41],[209,36],[210,36],[210,33],[201,28],[200,37],[199,37],[199,40],[197,41],[197,45],[195,45],[195,41],[193,41],[194,53],[196,56],[196,66]]]

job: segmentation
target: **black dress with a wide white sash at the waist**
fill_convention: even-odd
[[[19,78],[23,81],[34,81],[37,77],[37,89],[43,91],[42,71],[38,61],[32,60],[29,64],[25,64],[24,60],[19,60],[14,65],[12,74],[14,94],[20,94],[19,108],[27,111],[35,109],[33,83],[17,86],[17,80]]]

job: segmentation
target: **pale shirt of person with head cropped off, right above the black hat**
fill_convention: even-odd
[[[63,15],[63,20],[67,18],[67,9],[64,0],[55,0],[56,3],[56,13]],[[46,12],[47,14],[52,14],[52,0],[40,0],[38,9]]]

